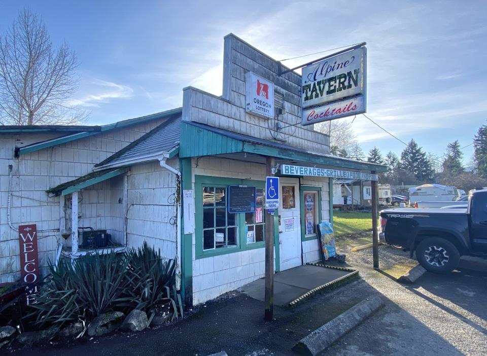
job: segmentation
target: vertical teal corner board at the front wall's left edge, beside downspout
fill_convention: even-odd
[[[191,158],[180,159],[180,167],[182,198],[183,189],[193,189]],[[184,204],[181,207],[181,297],[185,304],[193,305],[193,234],[184,234]]]

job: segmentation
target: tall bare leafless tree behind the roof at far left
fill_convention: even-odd
[[[0,35],[0,124],[68,125],[87,114],[69,105],[77,90],[75,53],[53,48],[41,19],[29,10]]]

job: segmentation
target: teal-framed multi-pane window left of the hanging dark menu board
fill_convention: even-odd
[[[235,218],[227,212],[226,187],[203,187],[203,251],[238,244]]]

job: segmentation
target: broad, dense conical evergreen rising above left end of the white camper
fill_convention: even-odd
[[[427,182],[433,179],[431,162],[414,139],[409,141],[401,153],[400,168],[411,172],[418,182]]]

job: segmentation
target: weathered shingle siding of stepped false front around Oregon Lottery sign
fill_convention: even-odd
[[[247,114],[245,111],[245,73],[255,74],[274,82],[275,91],[284,95],[285,114],[279,117],[283,128],[278,135],[285,144],[308,151],[330,152],[328,135],[314,131],[313,125],[302,126],[301,76],[287,73],[279,76],[278,62],[263,55],[233,35],[225,38],[223,63],[223,96],[218,97],[188,87],[183,93],[183,120],[195,121],[238,132],[252,137],[274,140],[275,120]],[[280,141],[282,143],[282,141]]]

